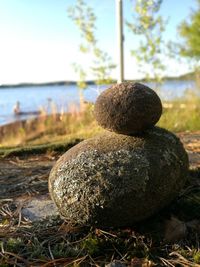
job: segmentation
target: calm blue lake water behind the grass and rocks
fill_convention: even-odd
[[[154,85],[150,85],[154,88]],[[99,93],[106,87],[98,88],[95,85],[88,86],[83,91],[84,99],[94,102]],[[158,94],[162,100],[181,97],[186,89],[194,88],[193,81],[167,81]],[[56,106],[57,112],[69,111],[71,105],[79,106],[79,91],[76,86],[42,86],[42,87],[19,87],[0,89],[0,125],[9,122],[26,119],[30,115],[16,117],[13,107],[20,102],[20,108],[24,112],[37,111],[41,107],[50,113],[52,105]]]

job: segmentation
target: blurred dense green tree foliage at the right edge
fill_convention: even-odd
[[[179,34],[184,43],[180,45],[180,55],[193,60],[196,79],[200,84],[200,0],[197,9],[190,15],[190,21],[184,20],[179,26]]]

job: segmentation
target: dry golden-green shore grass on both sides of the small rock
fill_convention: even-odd
[[[82,101],[81,109],[71,105],[69,113],[58,113],[52,104],[51,115],[43,112],[36,119],[16,122],[0,128],[0,147],[62,142],[71,138],[86,139],[101,132],[93,116],[93,104]],[[187,95],[164,102],[158,126],[172,132],[200,130],[200,98]]]

